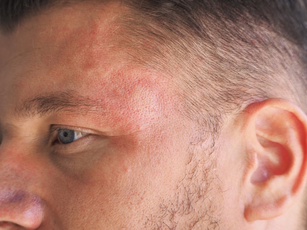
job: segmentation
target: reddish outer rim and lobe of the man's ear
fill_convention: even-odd
[[[244,210],[244,216],[245,219],[248,222],[256,221],[256,220],[263,220],[263,219],[271,219],[274,217],[277,217],[281,215],[285,210],[294,202],[295,199],[297,199],[299,194],[303,194],[303,190],[306,187],[306,180],[307,180],[307,116],[305,113],[296,105],[292,104],[291,102],[281,99],[281,98],[271,98],[264,101],[253,103],[246,107],[246,109],[243,111],[243,119],[249,120],[247,123],[244,123],[242,126],[242,130],[250,130],[254,129],[253,132],[256,133],[256,127],[251,126],[253,122],[256,122],[256,116],[265,108],[277,108],[280,110],[287,111],[297,118],[297,120],[302,124],[303,134],[304,138],[302,138],[302,159],[299,162],[300,168],[297,170],[297,177],[295,180],[295,183],[293,183],[293,186],[291,187],[291,191],[287,194],[284,193],[283,196],[280,198],[277,198],[275,200],[274,205],[269,203],[263,203],[261,204],[261,197],[256,198],[255,202],[255,196],[256,195],[246,195],[246,201],[245,201],[245,210]],[[253,190],[253,194],[256,194],[257,192],[262,192],[260,186],[272,186],[269,184],[251,184],[251,176],[253,174],[253,170],[256,170],[257,165],[257,158],[256,154],[248,154],[248,166],[246,169],[246,174],[244,175],[244,184],[245,186],[248,186],[248,190]],[[294,160],[293,165],[291,166],[290,170],[294,170],[294,167],[297,167],[296,159]],[[296,171],[295,170],[295,171]],[[293,173],[293,172],[289,172]],[[258,186],[253,187],[253,186]],[[260,190],[259,190],[260,189]],[[273,194],[274,195],[274,194]]]

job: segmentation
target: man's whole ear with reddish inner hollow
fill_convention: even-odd
[[[246,152],[243,185],[247,221],[275,218],[303,194],[307,117],[283,99],[249,105],[243,112]]]

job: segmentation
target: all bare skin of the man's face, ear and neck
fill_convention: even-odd
[[[306,115],[244,104],[212,138],[173,77],[118,44],[128,11],[85,1],[0,35],[0,227],[297,230]]]

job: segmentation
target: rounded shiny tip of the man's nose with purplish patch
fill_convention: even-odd
[[[22,190],[0,188],[0,230],[35,230],[42,220],[42,202],[37,197]]]

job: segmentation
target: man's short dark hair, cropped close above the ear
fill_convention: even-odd
[[[13,31],[58,2],[68,1],[1,0],[0,27]],[[119,46],[134,64],[174,77],[182,113],[202,135],[218,133],[223,115],[265,98],[283,97],[307,112],[307,0],[122,3],[131,11],[119,19]]]

